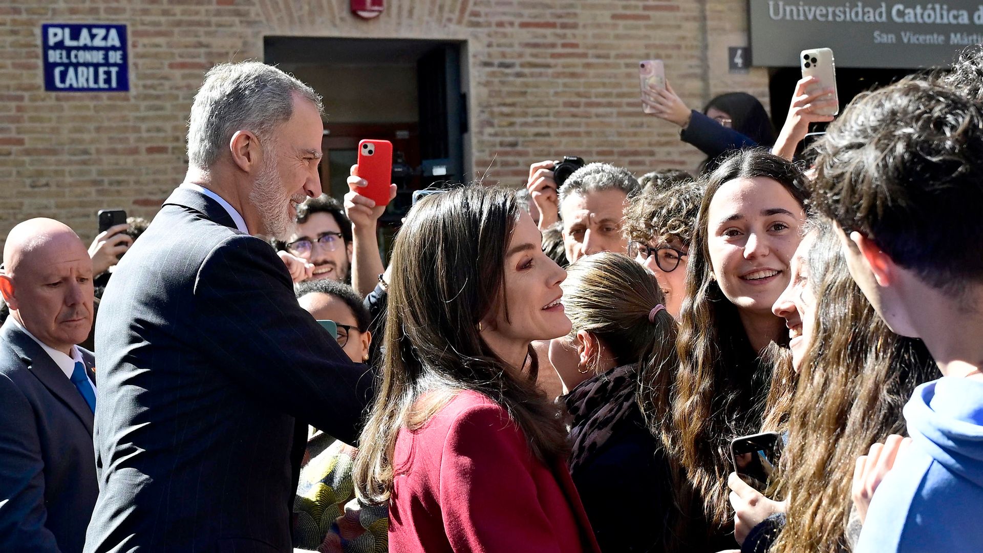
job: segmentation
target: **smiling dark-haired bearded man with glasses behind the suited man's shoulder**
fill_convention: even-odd
[[[305,280],[347,281],[352,263],[352,221],[345,216],[341,202],[326,194],[309,198],[297,208],[296,222],[297,230],[289,240],[274,242],[276,249],[314,266]]]

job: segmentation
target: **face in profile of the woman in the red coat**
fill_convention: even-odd
[[[563,291],[559,284],[566,271],[543,253],[541,240],[532,216],[519,210],[505,250],[504,305],[499,304],[486,316],[481,332],[486,343],[505,359],[524,352],[533,340],[570,332],[570,320],[560,303]]]

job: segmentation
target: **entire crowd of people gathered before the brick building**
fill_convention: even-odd
[[[384,264],[318,94],[214,67],[152,221],[7,235],[0,550],[983,551],[983,49],[813,84],[645,92],[695,174],[451,186]]]

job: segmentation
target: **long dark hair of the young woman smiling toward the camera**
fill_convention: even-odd
[[[729,440],[758,431],[771,388],[773,361],[761,359],[761,352],[751,346],[737,307],[712,276],[707,215],[724,183],[755,177],[780,183],[800,206],[805,205],[802,172],[763,149],[732,154],[705,177],[706,192],[689,249],[686,299],[679,316],[672,432],[665,437],[673,459],[685,469],[688,485],[703,502],[704,516],[715,526],[730,519]],[[678,484],[678,489],[686,488]],[[687,507],[686,498],[680,502]]]

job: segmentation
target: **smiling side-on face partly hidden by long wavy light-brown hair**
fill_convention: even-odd
[[[816,243],[816,233],[810,232],[799,243],[789,262],[791,278],[772,307],[772,312],[785,320],[788,328],[788,348],[792,352],[792,367],[798,372],[802,359],[815,338],[816,289],[809,275],[809,250]]]

